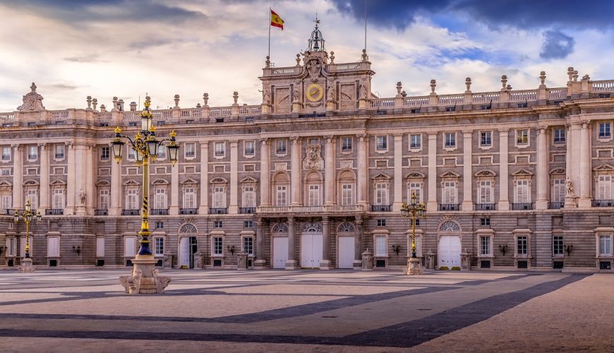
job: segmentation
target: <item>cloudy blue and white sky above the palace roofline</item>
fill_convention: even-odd
[[[285,21],[271,30],[271,60],[292,66],[315,12],[335,62],[360,59],[364,0],[4,0],[0,2],[0,112],[11,112],[35,81],[47,109],[85,107],[85,97],[126,105],[145,92],[153,105],[260,102],[268,8]],[[367,0],[373,92],[409,95],[564,86],[567,66],[614,78],[614,1]]]

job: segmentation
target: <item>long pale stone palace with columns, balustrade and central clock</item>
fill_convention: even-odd
[[[378,268],[411,254],[402,203],[416,220],[427,268],[608,271],[614,263],[614,80],[565,87],[466,90],[409,97],[371,92],[366,52],[335,62],[317,26],[292,66],[263,68],[263,101],[154,111],[176,131],[179,162],[150,166],[150,230],[159,265],[173,268]],[[292,61],[291,59],[289,61]],[[564,73],[563,73],[564,74]],[[541,84],[539,83],[541,80]],[[428,87],[428,86],[427,86]],[[153,97],[155,101],[155,97]],[[47,110],[32,83],[0,114],[0,267],[20,263],[29,200],[30,253],[39,268],[116,268],[138,251],[143,168],[114,161],[114,126],[140,130],[136,103]],[[5,245],[6,244],[6,245]]]

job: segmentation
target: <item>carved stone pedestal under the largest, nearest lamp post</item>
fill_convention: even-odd
[[[160,276],[155,265],[155,258],[135,258],[132,261],[134,268],[132,275],[120,276],[119,283],[126,293],[130,294],[155,294],[164,293],[171,282],[171,277]]]

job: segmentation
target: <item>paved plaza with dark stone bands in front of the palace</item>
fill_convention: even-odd
[[[164,270],[0,272],[3,352],[614,351],[614,275]]]

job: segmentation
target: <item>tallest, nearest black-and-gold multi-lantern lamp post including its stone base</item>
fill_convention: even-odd
[[[143,167],[143,203],[141,205],[142,221],[140,224],[140,232],[138,232],[138,236],[140,237],[140,240],[138,241],[140,248],[136,258],[133,261],[134,269],[132,276],[140,281],[139,286],[137,286],[139,290],[136,291],[140,293],[164,292],[163,287],[162,289],[159,289],[159,286],[156,286],[158,279],[157,271],[154,270],[154,266],[157,261],[155,260],[151,251],[151,241],[149,239],[151,234],[149,230],[148,211],[149,165],[150,163],[155,162],[160,146],[168,149],[169,160],[171,161],[172,166],[176,164],[177,153],[179,152],[179,144],[175,139],[177,136],[175,131],[171,131],[171,133],[169,133],[169,138],[157,140],[155,136],[155,127],[152,125],[153,112],[152,109],[150,109],[150,104],[150,97],[145,97],[145,109],[143,109],[143,112],[140,113],[140,131],[136,133],[134,138],[121,135],[121,128],[116,126],[115,138],[111,142],[113,156],[117,163],[121,162],[122,150],[124,145],[126,145],[122,139],[126,139],[128,140],[128,148],[131,148],[135,152],[136,164],[139,167]],[[148,280],[148,278],[151,278],[152,280]],[[170,281],[170,279],[168,280]]]

